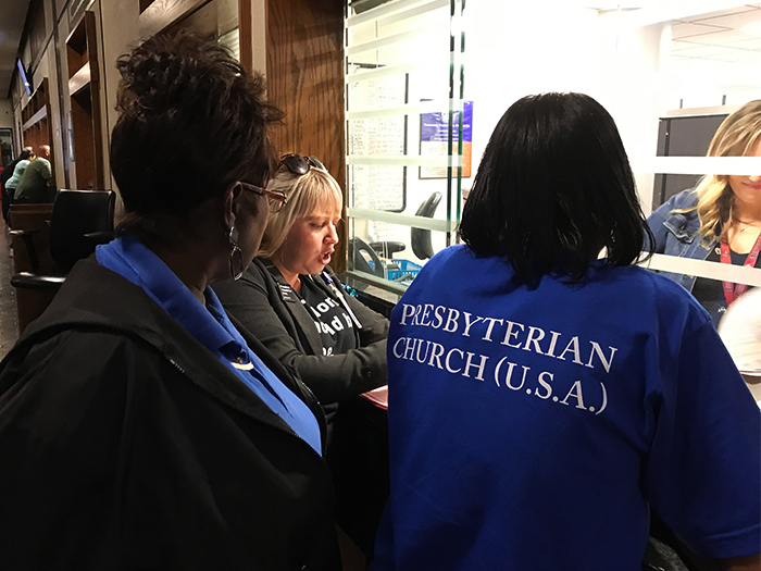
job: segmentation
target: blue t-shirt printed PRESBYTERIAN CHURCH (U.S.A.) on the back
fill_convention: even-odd
[[[681,286],[596,262],[536,289],[465,247],[388,336],[375,571],[635,571],[649,505],[697,553],[760,550],[761,413]]]

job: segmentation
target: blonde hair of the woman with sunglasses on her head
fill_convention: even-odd
[[[283,246],[297,219],[323,212],[339,216],[344,206],[344,195],[336,179],[327,171],[314,166],[299,175],[282,165],[267,189],[283,193],[287,203],[279,212],[270,214],[257,252],[261,258],[271,258]]]

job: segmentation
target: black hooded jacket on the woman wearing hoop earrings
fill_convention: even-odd
[[[330,533],[320,455],[92,258],[0,363],[0,462],[2,569],[301,569]]]

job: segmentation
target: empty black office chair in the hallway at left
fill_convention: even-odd
[[[91,255],[96,246],[113,239],[115,194],[112,190],[60,190],[50,215],[50,256],[52,273],[40,272],[39,256],[32,240],[36,231],[15,229],[22,238],[32,272],[11,277],[20,289],[55,290],[72,266]]]

